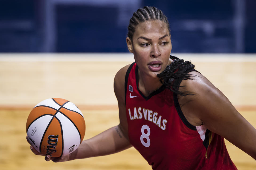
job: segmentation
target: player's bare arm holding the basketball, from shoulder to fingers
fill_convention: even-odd
[[[69,155],[61,156],[59,158],[51,158],[50,155],[43,155],[45,156],[45,160],[64,162],[73,159],[109,155],[131,147],[128,139],[128,125],[125,106],[125,74],[128,67],[129,65],[120,69],[114,78],[114,91],[118,100],[120,124],[83,141],[77,150]],[[32,146],[30,146],[30,148],[34,154],[42,155]]]

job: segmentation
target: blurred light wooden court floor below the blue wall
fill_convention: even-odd
[[[256,55],[177,56],[191,60],[256,127]],[[132,61],[127,54],[0,54],[0,169],[151,169],[134,148],[64,163],[46,162],[30,151],[25,139],[31,109],[53,97],[67,99],[81,109],[86,122],[84,139],[117,125],[114,75]],[[225,143],[239,170],[256,169],[253,158]]]

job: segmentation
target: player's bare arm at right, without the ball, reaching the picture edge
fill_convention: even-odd
[[[181,86],[194,95],[181,97],[186,101],[183,110],[256,160],[256,129],[208,79],[198,72],[190,74],[196,75],[195,79],[182,80]]]

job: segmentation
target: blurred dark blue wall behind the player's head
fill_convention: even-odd
[[[255,53],[254,0],[1,0],[0,52],[128,52],[134,11],[168,17],[172,52]]]

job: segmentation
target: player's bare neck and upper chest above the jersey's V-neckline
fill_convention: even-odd
[[[139,90],[145,95],[149,96],[150,93],[159,89],[162,86],[162,83],[159,81],[159,78],[152,78],[149,75],[144,75],[138,70],[139,76]]]

